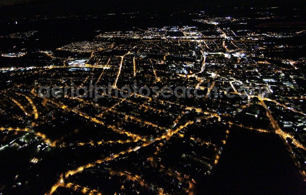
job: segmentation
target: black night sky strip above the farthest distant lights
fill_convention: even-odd
[[[293,7],[300,9],[306,8],[305,4],[299,0],[285,1],[241,1],[241,0],[20,0],[20,1],[0,0],[0,10],[3,15],[14,16],[31,16],[39,15],[65,15],[65,14],[102,14],[102,13],[124,13],[124,12],[154,12],[170,11],[171,9],[185,10],[214,10],[221,9],[230,12],[232,8],[268,8],[280,7],[285,11]],[[179,2],[179,3],[178,3]],[[5,6],[6,5],[6,6]],[[303,13],[303,12],[302,12]]]

